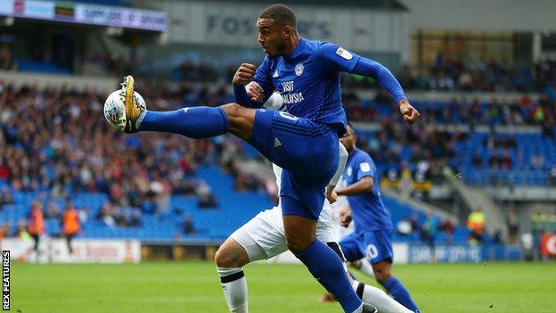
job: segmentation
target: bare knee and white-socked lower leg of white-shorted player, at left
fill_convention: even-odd
[[[243,273],[243,267],[249,263],[247,252],[228,238],[218,249],[215,261],[228,309],[232,313],[247,313],[247,280]]]

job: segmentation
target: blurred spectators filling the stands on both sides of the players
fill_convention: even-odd
[[[197,103],[217,105],[231,100],[225,85],[187,81],[159,85],[149,79],[142,81],[138,90],[154,110],[172,110]],[[68,89],[37,90],[29,86],[13,88],[1,83],[0,90],[3,108],[0,179],[8,182],[14,191],[38,191],[43,194],[38,200],[43,201],[70,198],[80,191],[109,194],[109,202],[94,217],[109,227],[139,227],[143,214],[167,214],[170,195],[195,198],[200,209],[217,208],[220,203],[210,186],[195,176],[196,169],[202,165],[217,165],[232,175],[237,192],[267,193],[275,199],[273,184],[240,169],[238,163],[245,158],[244,146],[233,136],[210,140],[160,134],[122,136],[99,118],[103,94]],[[387,114],[374,114],[373,107],[365,107],[356,94],[347,90],[344,95],[350,117],[379,122],[377,132],[360,134],[358,146],[371,153],[386,181],[399,182],[412,172],[409,175],[418,184],[409,192],[419,198],[426,194],[425,179],[440,181],[457,172],[454,157],[458,145],[469,139],[468,133],[446,131],[435,124],[541,124],[548,125],[545,136],[553,136],[556,116],[552,101],[545,99],[536,103],[526,95],[520,103],[452,102],[440,110],[425,108],[421,110],[425,122],[409,128],[397,122],[399,117],[394,106]],[[384,102],[388,98],[379,93],[375,103]],[[358,108],[364,113],[356,113]],[[511,136],[499,136],[493,131],[484,144],[494,149],[493,160],[485,164],[474,155],[474,165],[512,167],[506,153],[515,147]],[[556,164],[545,162],[542,155],[531,160],[531,167],[551,169],[556,182]],[[397,171],[392,174],[388,169]],[[0,190],[0,206],[13,201],[10,194],[7,186]],[[56,211],[59,209],[56,210],[55,204],[45,204],[47,218],[55,217]],[[87,208],[79,211],[80,216],[86,217]],[[183,223],[185,233],[194,232],[192,220]],[[423,235],[423,238],[428,237]]]

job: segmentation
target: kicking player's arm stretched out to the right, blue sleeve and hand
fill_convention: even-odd
[[[323,70],[345,71],[376,79],[380,86],[388,90],[400,106],[400,112],[409,124],[419,119],[419,112],[407,101],[404,89],[392,73],[379,62],[374,62],[357,54],[352,54],[339,45],[324,43],[317,54],[324,64]]]

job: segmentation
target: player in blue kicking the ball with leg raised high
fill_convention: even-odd
[[[345,312],[367,312],[345,276],[343,264],[328,246],[315,240],[316,220],[323,209],[325,186],[338,168],[339,136],[346,132],[341,105],[339,72],[378,78],[400,103],[407,122],[419,112],[405,99],[396,78],[376,62],[350,54],[338,45],[301,39],[295,15],[284,5],[272,5],[259,15],[258,41],[268,56],[258,68],[242,67],[233,79],[236,101],[260,108],[249,100],[243,84],[251,78],[261,86],[265,99],[274,89],[281,92],[291,114],[253,110],[238,103],[147,111],[134,94],[134,80],[123,84],[126,132],[159,131],[192,138],[227,132],[247,141],[269,161],[280,166],[280,201],[286,243],[311,274],[339,301]],[[119,118],[118,122],[121,118]]]

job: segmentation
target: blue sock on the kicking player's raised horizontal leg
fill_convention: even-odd
[[[224,135],[229,124],[222,108],[200,106],[176,111],[143,111],[136,127],[139,131],[159,131],[201,139]]]

